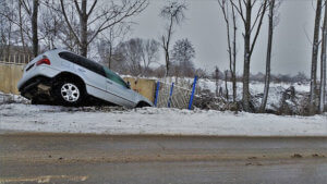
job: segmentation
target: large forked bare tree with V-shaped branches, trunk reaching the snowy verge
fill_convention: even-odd
[[[250,62],[266,13],[267,0],[235,0],[230,2],[235,8],[244,24],[243,108],[245,111],[250,111]],[[254,8],[257,8],[257,11],[254,16],[254,22],[252,22]],[[251,38],[252,36],[253,39]]]

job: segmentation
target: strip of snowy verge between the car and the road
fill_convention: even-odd
[[[327,114],[304,118],[157,108],[107,112],[11,103],[0,106],[0,130],[112,135],[327,136]]]

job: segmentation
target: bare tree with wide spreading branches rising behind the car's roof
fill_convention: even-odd
[[[78,29],[74,28],[68,14],[66,4],[60,0],[61,13],[72,33],[75,41],[80,47],[82,56],[87,57],[87,49],[90,42],[104,30],[119,23],[126,21],[129,17],[141,13],[148,4],[148,0],[114,0],[98,2],[94,0],[88,7],[87,0],[81,3],[74,0],[74,10],[80,19]]]

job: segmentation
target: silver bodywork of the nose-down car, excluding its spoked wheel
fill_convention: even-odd
[[[76,58],[73,58],[74,56]],[[44,58],[48,59],[50,64],[37,65],[37,62]],[[77,60],[81,60],[82,64]],[[86,94],[97,99],[126,108],[135,108],[141,103],[154,106],[147,98],[132,90],[126,83],[121,82],[122,78],[113,72],[111,73],[109,69],[93,61],[90,61],[93,63],[89,63],[89,61],[84,57],[62,49],[47,51],[26,65],[17,87],[22,96],[31,99],[39,89],[51,90],[53,81],[58,76],[64,75],[66,77],[81,78]],[[101,71],[100,66],[104,68],[104,71]],[[49,91],[48,94],[50,95]]]

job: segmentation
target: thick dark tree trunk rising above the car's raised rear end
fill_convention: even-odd
[[[32,42],[33,42],[33,54],[38,54],[38,36],[37,36],[37,16],[38,16],[38,0],[33,0],[33,13],[32,13]]]

